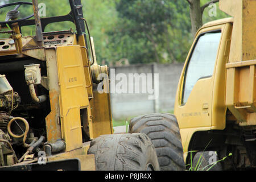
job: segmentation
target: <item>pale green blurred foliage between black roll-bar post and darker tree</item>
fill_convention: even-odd
[[[88,22],[90,35],[93,36],[97,62],[109,64],[113,61],[116,49],[119,44],[113,45],[110,42],[110,35],[107,32],[113,30],[117,24],[117,11],[113,0],[82,0],[84,5],[84,16]],[[112,45],[113,49],[110,49]]]

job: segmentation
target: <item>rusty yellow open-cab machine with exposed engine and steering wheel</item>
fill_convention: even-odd
[[[158,170],[147,135],[112,135],[110,96],[97,90],[108,67],[96,62],[81,0],[68,2],[68,15],[48,18],[36,0],[0,6],[14,7],[0,22],[10,34],[0,39],[0,170]],[[34,13],[19,17],[23,5]],[[76,31],[44,32],[67,21]],[[26,26],[36,36],[22,36]]]

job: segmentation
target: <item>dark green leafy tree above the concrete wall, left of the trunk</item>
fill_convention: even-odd
[[[108,32],[113,46],[121,45],[114,60],[126,58],[130,63],[185,60],[184,50],[187,52],[190,42],[185,2],[120,0],[116,9],[119,23]]]

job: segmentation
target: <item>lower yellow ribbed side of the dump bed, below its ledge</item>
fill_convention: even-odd
[[[249,126],[256,120],[256,77],[255,65],[249,64],[253,61],[244,62],[228,65],[226,105],[240,125]]]

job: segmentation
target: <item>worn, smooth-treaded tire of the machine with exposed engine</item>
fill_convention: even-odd
[[[145,134],[102,135],[90,143],[96,171],[159,171],[154,145]]]

